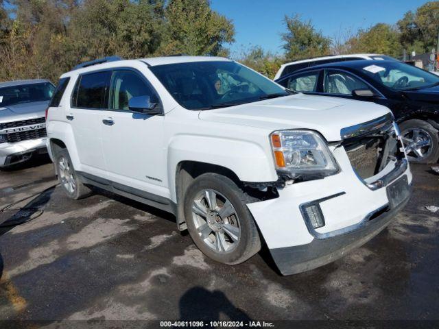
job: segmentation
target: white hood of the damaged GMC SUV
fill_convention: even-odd
[[[260,127],[270,132],[309,129],[320,132],[329,142],[340,141],[340,131],[388,114],[384,106],[325,96],[296,94],[230,108],[205,110],[200,119],[219,123]]]

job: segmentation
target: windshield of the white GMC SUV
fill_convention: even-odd
[[[236,62],[189,62],[150,67],[178,103],[207,110],[289,95],[284,88]]]

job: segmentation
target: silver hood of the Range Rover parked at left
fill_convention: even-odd
[[[44,117],[47,106],[49,106],[49,101],[20,103],[6,107],[0,106],[0,122]]]

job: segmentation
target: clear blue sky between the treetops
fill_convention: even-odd
[[[376,23],[394,24],[405,12],[416,10],[423,0],[211,0],[214,10],[235,24],[237,52],[241,47],[261,45],[273,53],[282,53],[281,36],[285,32],[285,14],[300,14],[311,19],[316,29],[333,37],[340,29],[367,28]]]

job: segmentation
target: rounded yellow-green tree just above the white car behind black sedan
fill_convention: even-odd
[[[378,23],[369,29],[359,29],[346,44],[351,53],[383,53],[396,58],[401,57],[402,53],[399,32],[385,23]]]

